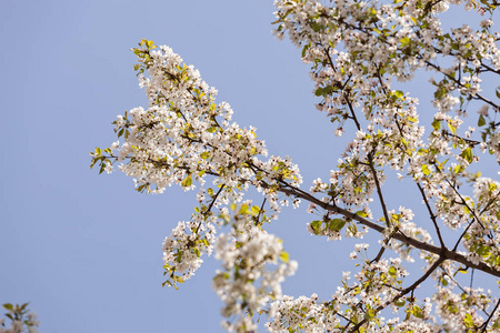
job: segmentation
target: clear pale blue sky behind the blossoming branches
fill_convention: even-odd
[[[123,174],[91,171],[88,152],[116,141],[117,114],[147,105],[129,51],[146,38],[194,64],[271,154],[291,155],[304,189],[327,179],[343,147],[272,12],[272,1],[0,2],[0,303],[31,302],[43,333],[220,331],[213,259],[179,291],[161,287],[162,240],[196,192],[139,194]],[[353,270],[352,246],[310,236],[304,210],[270,228],[299,261],[284,293],[327,299]]]

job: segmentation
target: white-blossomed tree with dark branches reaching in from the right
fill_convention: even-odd
[[[500,74],[498,4],[276,1],[276,34],[288,32],[302,50],[317,108],[337,135],[351,137],[330,179],[309,191],[289,158],[269,158],[253,128],[231,122],[230,105],[216,101],[217,90],[192,65],[147,40],[133,52],[149,105],[118,117],[114,131],[124,141],[96,149],[91,165],[102,173],[120,163],[139,192],[198,186],[196,213],[163,242],[164,285],[177,289],[216,250],[222,268],[213,287],[228,331],[253,332],[266,313],[271,332],[498,332],[499,297],[462,283],[474,272],[500,278],[500,182],[474,167],[500,163],[500,92],[480,85]],[[450,7],[477,13],[480,23],[444,30],[440,18]],[[419,113],[418,100],[400,88],[422,70],[432,73],[433,114]],[[391,176],[421,194],[427,212],[418,223],[410,208],[387,203]],[[246,198],[250,188],[262,200]],[[330,300],[281,292],[298,265],[266,228],[281,206],[301,201],[322,216],[308,224],[311,234],[379,234],[374,258],[361,259],[369,244],[354,246],[358,271],[343,273]],[[410,280],[410,264],[423,273]],[[436,285],[428,294],[418,290],[427,280]]]

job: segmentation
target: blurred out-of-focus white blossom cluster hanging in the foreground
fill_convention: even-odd
[[[217,271],[213,289],[224,302],[222,325],[230,332],[253,332],[256,314],[266,312],[271,300],[280,300],[281,283],[297,270],[288,259],[282,243],[267,233],[243,204],[236,212],[231,231],[219,235],[216,258],[222,270]],[[277,265],[270,270],[270,265]]]

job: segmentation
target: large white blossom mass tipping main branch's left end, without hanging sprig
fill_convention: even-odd
[[[136,69],[149,108],[118,117],[114,131],[124,143],[97,149],[92,165],[100,163],[110,171],[116,161],[126,162],[119,169],[136,179],[140,192],[161,193],[171,184],[190,190],[193,180],[203,185],[208,174],[217,175],[218,184],[227,188],[248,186],[252,180],[268,188],[277,178],[300,184],[297,165],[289,159],[257,159],[266,157],[267,150],[263,141],[256,139],[256,129],[231,123],[231,108],[214,102],[217,90],[202,81],[193,67],[168,47],[154,51],[156,46],[146,40],[140,47],[133,49],[140,61]],[[223,194],[227,200],[241,199],[239,191]]]

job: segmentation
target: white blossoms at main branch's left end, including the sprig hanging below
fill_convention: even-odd
[[[216,103],[217,90],[193,67],[168,47],[156,51],[147,40],[139,47],[133,49],[139,57],[134,69],[149,108],[118,115],[114,131],[124,142],[96,149],[92,167],[99,163],[101,172],[109,173],[116,162],[122,162],[119,169],[134,178],[139,192],[161,193],[172,184],[192,190],[194,181],[201,184],[198,213],[180,222],[163,242],[166,284],[176,285],[192,276],[201,255],[212,251],[218,226],[212,208],[240,202],[252,184],[269,199],[270,209],[280,211],[276,191],[280,182],[299,185],[302,179],[289,158],[258,159],[267,157],[267,150],[256,139],[256,129],[231,123],[230,105]],[[204,186],[207,175],[217,176],[213,188]]]

